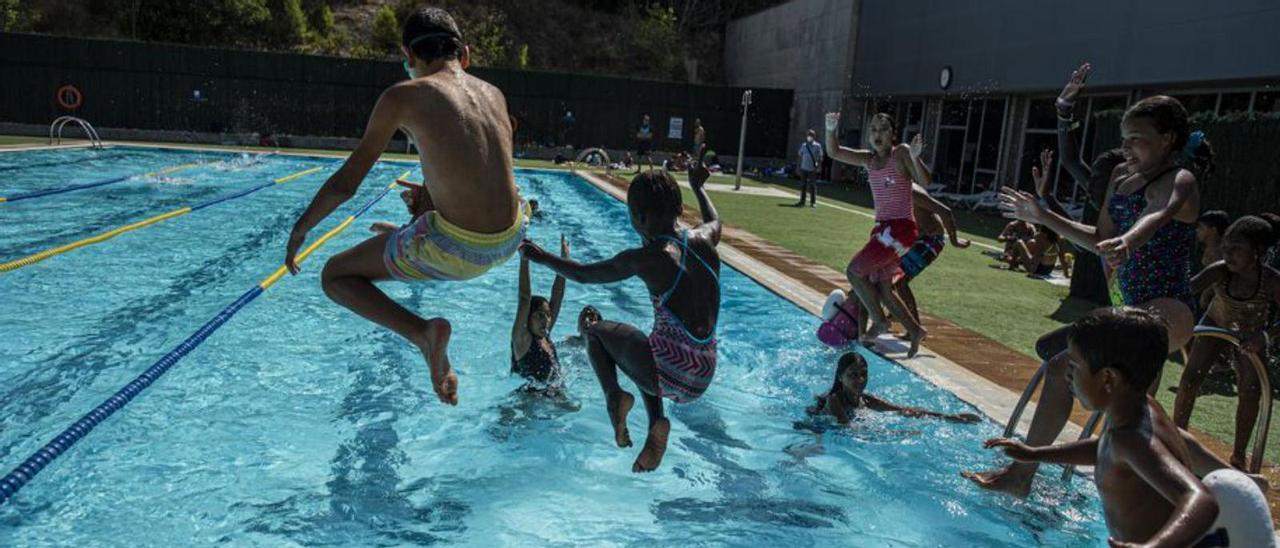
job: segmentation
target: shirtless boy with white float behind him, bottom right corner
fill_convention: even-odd
[[[1102,309],[1070,326],[1073,392],[1106,412],[1098,438],[1044,447],[989,439],[1023,462],[1093,466],[1112,547],[1275,545],[1262,492],[1244,474],[1215,470],[1203,480],[1190,449],[1147,388],[1165,365],[1164,321],[1140,309]]]

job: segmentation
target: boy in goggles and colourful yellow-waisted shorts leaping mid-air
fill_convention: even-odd
[[[410,79],[378,99],[360,145],[293,227],[284,264],[297,274],[294,257],[307,232],[356,195],[396,129],[407,129],[421,151],[428,182],[412,192],[426,193],[434,209],[415,211],[413,222],[396,230],[375,228],[378,236],[335,255],[325,264],[321,286],[338,303],[417,346],[436,396],[457,405],[449,321],[419,318],[374,282],[465,280],[516,254],[526,222],[512,173],[511,119],[502,92],[465,72],[470,52],[447,12],[424,8],[411,14],[401,51]]]

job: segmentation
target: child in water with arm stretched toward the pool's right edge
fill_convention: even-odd
[[[840,361],[836,364],[836,380],[831,384],[831,389],[822,396],[815,396],[817,402],[809,406],[805,412],[810,416],[831,415],[840,424],[849,424],[855,412],[861,408],[896,412],[910,417],[942,419],[951,423],[978,423],[982,420],[972,412],[948,415],[887,402],[867,393],[868,376],[867,359],[858,352],[846,352],[840,356]]]

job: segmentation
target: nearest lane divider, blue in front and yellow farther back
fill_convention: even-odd
[[[402,174],[399,178],[406,178],[408,177],[408,174],[410,172],[404,172],[404,174]],[[394,182],[389,184],[387,188],[384,188],[381,192],[379,192],[378,196],[375,196],[362,207],[356,210],[355,214],[343,219],[342,223],[339,223],[337,227],[334,227],[324,236],[321,236],[319,239],[307,246],[305,250],[302,250],[302,252],[298,254],[297,256],[297,262],[302,264],[302,261],[305,261],[314,251],[320,248],[320,246],[324,246],[335,236],[346,230],[347,227],[351,227],[351,224],[355,223],[360,215],[364,215],[365,211],[369,211],[369,209],[372,207],[375,204],[378,204],[378,201],[380,201],[383,197],[385,197],[387,193],[392,191],[392,188],[396,188]],[[177,364],[184,356],[191,353],[191,351],[196,350],[196,347],[198,347],[210,335],[212,335],[214,332],[218,330],[218,328],[223,326],[223,324],[230,320],[232,316],[236,315],[236,312],[239,312],[241,309],[252,302],[266,289],[270,289],[271,286],[279,282],[285,273],[288,273],[288,269],[285,266],[275,269],[275,271],[271,273],[271,275],[264,278],[262,282],[259,282],[257,286],[253,286],[252,288],[246,291],[244,294],[241,294],[239,298],[237,298],[234,302],[232,302],[220,312],[218,312],[218,315],[215,315],[205,325],[201,325],[200,329],[196,330],[196,333],[192,333],[191,337],[187,337],[186,341],[178,344],[174,350],[169,351],[169,353],[164,355],[150,367],[147,367],[146,371],[142,371],[142,374],[134,378],[132,382],[129,382],[129,384],[125,384],[124,388],[116,391],[115,394],[113,394],[102,403],[99,403],[97,407],[95,407],[84,416],[79,417],[79,420],[77,420],[76,423],[72,423],[72,425],[68,426],[65,430],[63,430],[61,434],[58,434],[52,440],[46,443],[45,447],[41,447],[32,456],[27,457],[27,460],[23,461],[22,465],[18,465],[18,467],[13,469],[13,471],[10,471],[8,475],[0,478],[0,504],[4,504],[6,501],[13,498],[13,496],[17,494],[18,490],[22,489],[33,478],[36,478],[36,474],[40,474],[40,471],[44,470],[45,466],[49,466],[50,462],[52,462],[55,458],[58,458],[68,449],[70,449],[72,446],[76,444],[76,442],[83,439],[86,435],[88,435],[90,431],[97,428],[99,424],[102,424],[102,421],[105,421],[113,414],[123,408],[134,397],[142,393],[142,391],[145,391],[147,387],[155,383],[161,375],[168,373],[169,369],[174,366],[174,364]]]

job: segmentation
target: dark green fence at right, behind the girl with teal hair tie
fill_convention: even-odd
[[[1096,118],[1097,146],[1120,146],[1123,113]],[[1213,173],[1201,181],[1201,210],[1220,209],[1233,218],[1280,211],[1280,118],[1272,115],[1196,115],[1192,128],[1204,132],[1213,146]]]

